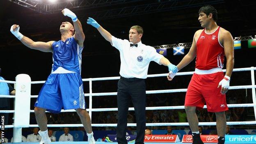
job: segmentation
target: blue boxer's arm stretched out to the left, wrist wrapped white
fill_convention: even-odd
[[[31,49],[35,49],[35,50],[40,50],[42,52],[53,52],[52,49],[52,44],[54,41],[48,41],[48,42],[41,42],[41,41],[33,41],[32,39],[23,36],[23,34],[21,34],[19,32],[20,27],[19,25],[12,25],[11,26],[11,33],[14,34],[15,37],[17,37],[25,46],[31,48]]]

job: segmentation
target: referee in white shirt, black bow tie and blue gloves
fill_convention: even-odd
[[[87,19],[87,23],[96,27],[101,35],[120,52],[121,78],[118,81],[117,89],[117,142],[118,144],[127,144],[127,114],[130,101],[132,101],[137,122],[135,144],[144,144],[146,128],[146,85],[144,80],[147,78],[149,63],[155,61],[158,64],[163,64],[168,66],[169,71],[172,72],[177,72],[178,69],[168,59],[157,53],[155,48],[146,46],[141,42],[142,27],[138,25],[132,26],[129,31],[128,41],[112,36],[93,18]]]

